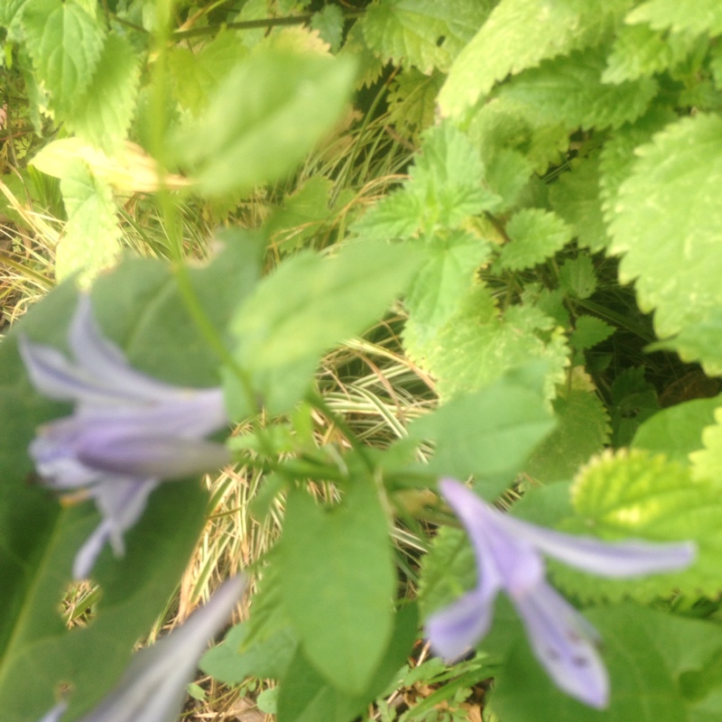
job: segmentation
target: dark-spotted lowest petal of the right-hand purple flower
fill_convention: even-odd
[[[588,621],[543,581],[512,601],[534,653],[560,690],[590,707],[605,708],[609,680],[597,652],[598,634]]]

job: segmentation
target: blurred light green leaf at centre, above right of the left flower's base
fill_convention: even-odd
[[[417,259],[408,245],[365,241],[334,258],[301,253],[265,278],[231,323],[236,361],[264,405],[284,412],[298,402],[321,354],[378,319]],[[250,411],[247,401],[235,394],[239,414]]]

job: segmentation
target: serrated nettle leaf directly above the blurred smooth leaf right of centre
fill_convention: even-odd
[[[508,369],[533,360],[549,364],[546,398],[552,399],[556,384],[564,380],[569,348],[561,329],[534,306],[512,306],[500,314],[482,285],[467,292],[456,313],[432,335],[425,326],[418,328],[421,323],[413,317],[407,321],[403,345],[412,359],[437,377],[442,397],[476,391]]]

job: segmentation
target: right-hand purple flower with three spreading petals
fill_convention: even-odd
[[[474,646],[491,624],[494,600],[504,591],[522,617],[532,650],[561,690],[591,707],[605,708],[606,668],[596,630],[547,583],[542,553],[606,577],[633,577],[686,567],[691,542],[601,542],[542,529],[502,514],[458,481],[440,491],[458,515],[477,559],[477,588],[431,615],[427,635],[437,653],[455,659]]]

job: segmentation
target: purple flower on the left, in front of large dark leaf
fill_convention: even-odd
[[[84,490],[103,517],[73,564],[83,579],[106,542],[123,554],[124,532],[162,479],[227,463],[225,447],[203,440],[227,415],[219,388],[180,388],[135,371],[100,335],[86,294],[68,340],[72,361],[23,337],[20,353],[38,391],[75,403],[70,416],[40,427],[29,452],[45,486],[68,498]]]

